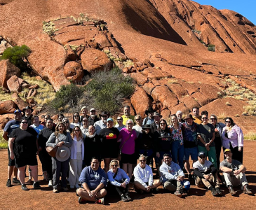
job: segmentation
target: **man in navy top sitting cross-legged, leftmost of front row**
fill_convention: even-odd
[[[104,197],[107,195],[107,190],[105,190],[107,174],[100,168],[100,162],[97,158],[93,157],[90,166],[83,169],[79,181],[83,186],[83,188],[76,190],[80,204],[85,201],[96,202],[98,204],[105,203]]]

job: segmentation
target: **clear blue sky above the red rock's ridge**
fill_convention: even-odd
[[[218,10],[229,9],[245,16],[256,25],[256,0],[194,0],[203,5],[211,5]]]

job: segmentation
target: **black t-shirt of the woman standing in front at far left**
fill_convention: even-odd
[[[27,130],[17,128],[11,132],[9,137],[15,138],[13,143],[13,153],[36,153],[37,132],[32,127],[28,127]]]

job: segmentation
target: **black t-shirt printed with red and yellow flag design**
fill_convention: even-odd
[[[102,138],[102,153],[114,154],[119,151],[119,143],[117,137],[119,136],[119,130],[116,127],[103,128],[99,134]]]

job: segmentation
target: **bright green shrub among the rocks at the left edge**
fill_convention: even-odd
[[[27,45],[14,46],[13,48],[6,48],[4,50],[1,59],[9,59],[9,61],[17,66],[20,69],[26,69],[27,63],[24,62],[24,59],[27,60],[31,50]]]

